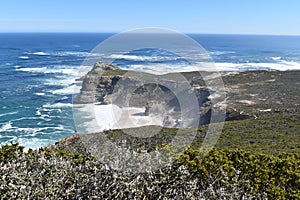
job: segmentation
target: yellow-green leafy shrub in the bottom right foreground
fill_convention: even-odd
[[[283,154],[279,157],[254,154],[242,150],[214,149],[204,158],[199,150],[189,148],[178,160],[209,183],[209,174],[223,172],[220,185],[246,182],[246,191],[252,194],[266,194],[270,199],[300,198],[299,154]]]

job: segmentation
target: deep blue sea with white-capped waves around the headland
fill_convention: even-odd
[[[72,135],[77,72],[89,52],[110,36],[1,33],[0,145],[14,141],[37,148]],[[300,69],[300,36],[189,36],[205,48],[220,71]],[[180,62],[170,59],[171,54],[149,49],[113,56],[114,64],[129,69]]]

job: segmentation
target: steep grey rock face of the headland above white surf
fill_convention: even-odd
[[[166,77],[133,71],[119,73],[120,71],[122,70],[114,65],[96,63],[82,78],[80,94],[73,98],[73,102],[113,103],[121,108],[145,108],[145,116],[159,115],[164,118],[163,124],[167,127],[179,126],[182,115],[190,121],[185,127],[189,127],[195,120],[200,121],[200,124],[209,123],[211,103],[208,97],[211,91],[205,86],[199,87],[195,78],[187,82],[189,79],[176,79],[176,74],[172,79],[172,75]],[[198,104],[196,111],[189,107],[195,103],[190,101],[193,98]],[[195,112],[197,116],[191,114]]]

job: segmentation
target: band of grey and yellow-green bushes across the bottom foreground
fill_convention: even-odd
[[[201,158],[189,148],[160,171],[110,170],[92,157],[42,148],[0,149],[1,199],[297,199],[297,154],[278,157],[213,150]]]

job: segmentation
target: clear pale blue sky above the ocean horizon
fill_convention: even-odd
[[[300,1],[3,0],[0,4],[0,32],[119,32],[143,27],[300,35]]]

